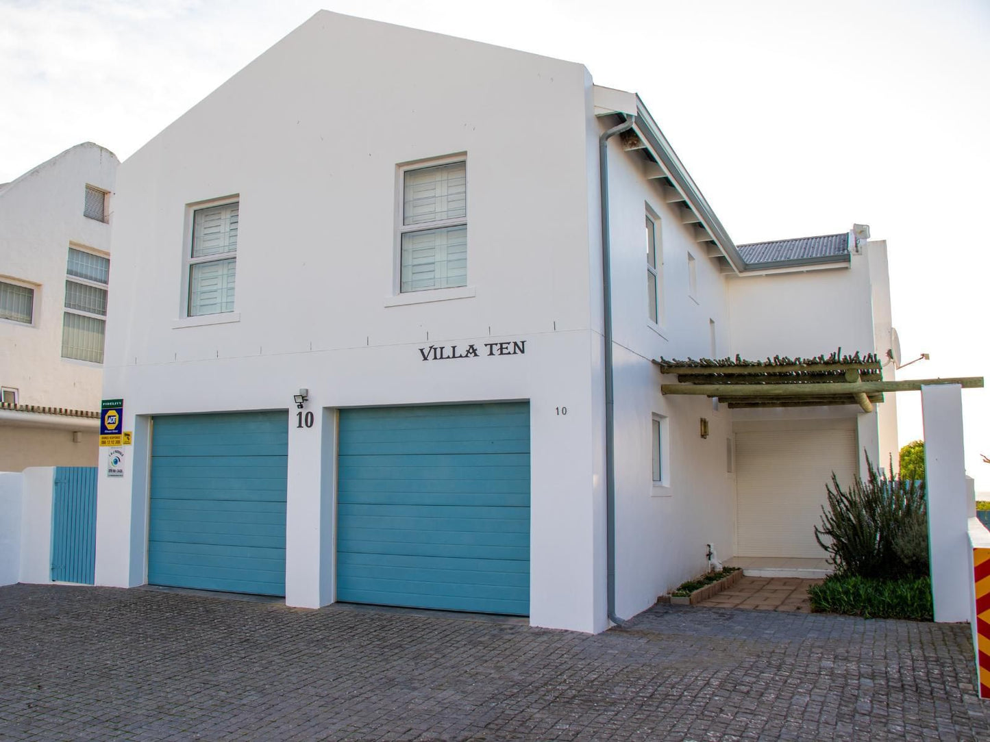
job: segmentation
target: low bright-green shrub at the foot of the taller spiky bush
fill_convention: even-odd
[[[815,612],[860,615],[863,618],[933,619],[932,582],[927,577],[871,580],[833,575],[808,589]]]

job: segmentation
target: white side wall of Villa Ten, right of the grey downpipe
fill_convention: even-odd
[[[600,125],[602,131],[604,125]],[[590,183],[597,193],[597,168]],[[706,398],[665,398],[652,360],[711,355],[710,320],[716,350],[728,353],[729,321],[725,280],[715,260],[682,224],[679,206],[668,205],[658,182],[644,176],[644,160],[610,142],[613,318],[616,389],[616,610],[630,617],[657,596],[707,569],[706,544],[724,556],[735,553],[735,479],[727,472],[726,439],[731,416]],[[645,286],[644,219],[658,218],[662,266],[659,292],[665,318],[648,319]],[[597,248],[597,245],[596,245]],[[697,292],[689,294],[688,253],[695,257]],[[600,251],[592,261],[600,263]],[[601,305],[601,289],[592,294]],[[598,342],[601,340],[599,339]],[[594,394],[604,389],[604,369],[596,364]],[[669,486],[652,483],[653,414],[667,417]],[[710,434],[700,436],[700,419]],[[596,418],[604,425],[604,414]]]

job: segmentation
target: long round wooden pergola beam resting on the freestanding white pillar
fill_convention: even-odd
[[[818,384],[661,384],[662,394],[699,395],[731,400],[733,397],[834,397],[876,392],[920,392],[923,386],[958,384],[963,389],[982,389],[982,376],[908,381],[861,381]]]

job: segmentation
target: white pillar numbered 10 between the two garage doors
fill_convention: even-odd
[[[312,426],[307,427],[310,420]],[[337,411],[322,410],[312,402],[303,411],[289,411],[286,605],[318,608],[334,601],[336,450]]]

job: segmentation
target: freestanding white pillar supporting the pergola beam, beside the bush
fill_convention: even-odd
[[[932,596],[939,622],[969,620],[970,574],[962,394],[957,384],[922,387]]]

